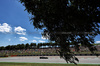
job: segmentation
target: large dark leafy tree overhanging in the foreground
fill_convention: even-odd
[[[43,36],[60,45],[62,58],[75,63],[69,49],[70,42],[88,47],[94,53],[94,37],[100,34],[100,0],[20,0],[32,15],[35,28],[43,29]],[[89,32],[86,34],[86,32]],[[76,48],[78,51],[79,48]],[[70,58],[68,57],[70,56]]]

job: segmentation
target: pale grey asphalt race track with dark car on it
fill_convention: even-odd
[[[0,62],[24,62],[24,63],[66,63],[59,56],[45,56],[48,59],[40,59],[40,56],[22,56],[0,58]],[[79,64],[100,64],[100,56],[76,56]]]

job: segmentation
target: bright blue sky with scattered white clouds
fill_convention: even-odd
[[[0,46],[48,42],[41,35],[42,30],[30,24],[30,14],[18,0],[0,0]],[[100,43],[100,35],[95,38]]]

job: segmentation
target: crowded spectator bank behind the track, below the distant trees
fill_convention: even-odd
[[[100,44],[94,44],[94,47],[97,48],[97,54],[100,54]],[[28,48],[28,49],[16,49],[16,50],[0,50],[0,56],[21,56],[21,55],[59,55],[56,50],[59,50],[59,47],[39,47],[39,48]],[[87,47],[80,46],[79,52],[75,51],[75,47],[71,46],[70,50],[75,54],[91,54]]]

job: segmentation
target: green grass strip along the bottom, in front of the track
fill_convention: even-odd
[[[13,63],[0,62],[0,66],[100,66],[97,64]]]

